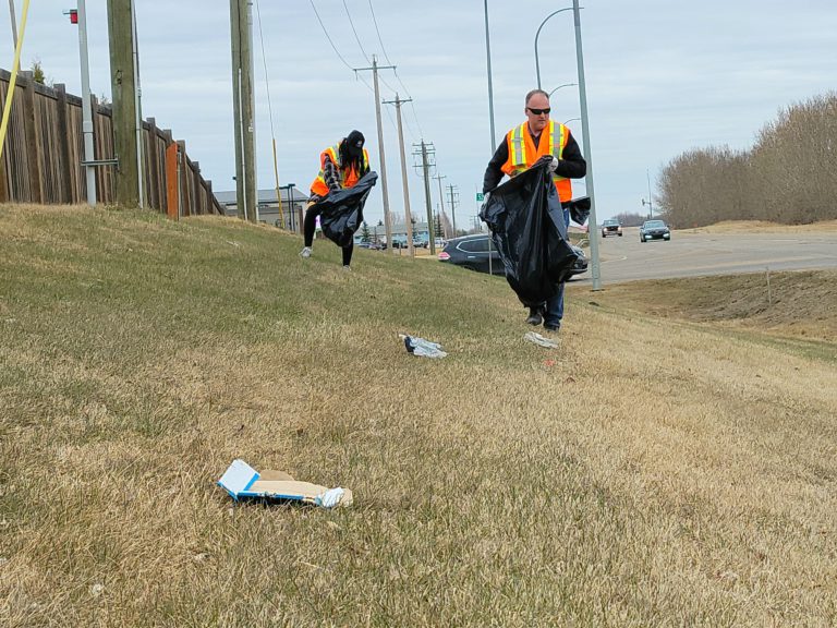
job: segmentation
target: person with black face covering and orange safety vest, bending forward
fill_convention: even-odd
[[[369,171],[369,154],[363,147],[365,137],[360,131],[352,131],[343,137],[339,144],[326,148],[319,155],[319,174],[311,184],[311,198],[308,200],[303,225],[305,246],[300,252],[304,258],[311,257],[314,244],[314,231],[317,228],[319,209],[316,203],[328,196],[331,192],[354,188],[355,183]],[[350,268],[354,244],[343,247],[343,268]]]

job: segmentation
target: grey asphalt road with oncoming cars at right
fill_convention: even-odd
[[[674,231],[669,242],[640,242],[638,228],[599,237],[603,285],[635,279],[837,268],[837,232],[695,233]],[[573,283],[592,283],[593,268]]]

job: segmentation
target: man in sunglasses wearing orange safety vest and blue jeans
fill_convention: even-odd
[[[570,213],[567,204],[572,198],[570,179],[581,179],[587,172],[587,162],[570,130],[560,122],[549,119],[549,95],[541,89],[526,94],[526,121],[506,134],[502,144],[488,162],[483,179],[483,193],[497,188],[504,174],[514,177],[531,168],[539,159],[551,156],[549,169],[563,207],[565,226],[569,226]],[[526,323],[541,325],[549,331],[557,331],[563,318],[563,283],[558,292],[536,307],[529,309]]]

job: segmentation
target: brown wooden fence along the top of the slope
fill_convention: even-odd
[[[9,93],[11,74],[0,70],[0,111]],[[94,159],[113,159],[113,125],[107,105],[93,100]],[[211,181],[201,176],[197,161],[186,155],[185,143],[171,131],[157,128],[154,118],[143,122],[145,205],[170,217],[220,214]],[[61,84],[35,83],[21,72],[12,101],[9,129],[0,157],[0,203],[85,203],[82,99]],[[116,166],[96,168],[96,198],[113,203]]]

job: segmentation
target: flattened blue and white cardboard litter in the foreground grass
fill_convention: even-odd
[[[352,492],[349,488],[328,488],[311,482],[299,482],[284,471],[259,473],[244,460],[233,460],[218,485],[240,499],[275,499],[277,502],[301,502],[323,508],[351,506]]]

